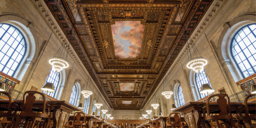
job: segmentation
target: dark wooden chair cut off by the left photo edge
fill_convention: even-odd
[[[18,118],[17,111],[19,110],[20,106],[17,105],[13,100],[10,94],[6,92],[0,92],[0,94],[5,94],[9,98],[9,106],[8,111],[0,112],[0,117],[3,117],[3,120],[0,122],[1,127],[11,127],[12,124],[15,123],[15,121]],[[1,105],[0,105],[1,107]],[[12,113],[12,108],[14,108],[14,112]]]

